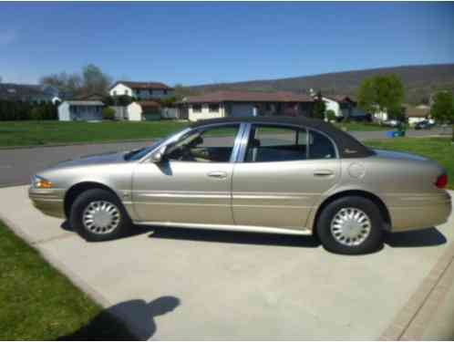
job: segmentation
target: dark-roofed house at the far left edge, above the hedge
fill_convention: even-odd
[[[52,102],[61,100],[59,91],[53,86],[32,84],[0,83],[0,99],[24,102]]]

